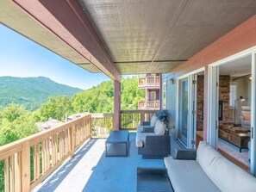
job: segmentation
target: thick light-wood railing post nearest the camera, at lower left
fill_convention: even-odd
[[[22,145],[22,191],[30,191],[30,145],[25,142]]]

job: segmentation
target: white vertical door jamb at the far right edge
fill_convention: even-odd
[[[250,171],[256,176],[256,53],[252,54],[252,111],[251,111],[251,149]]]

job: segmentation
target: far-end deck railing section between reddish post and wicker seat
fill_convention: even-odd
[[[158,110],[126,110],[120,113],[120,128],[135,130],[143,121],[150,121],[150,117]]]

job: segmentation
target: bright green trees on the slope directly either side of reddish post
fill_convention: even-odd
[[[121,108],[122,110],[138,109],[138,102],[145,97],[145,92],[138,89],[138,77],[122,78]],[[113,113],[114,84],[103,82],[90,90],[79,92],[72,97],[75,113],[90,111],[91,113]]]

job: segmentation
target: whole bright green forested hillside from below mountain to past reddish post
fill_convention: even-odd
[[[121,109],[138,109],[138,102],[145,92],[138,89],[138,77],[122,78]],[[90,90],[78,92],[71,99],[67,96],[50,96],[46,103],[35,112],[36,121],[47,121],[49,117],[63,121],[65,115],[80,112],[113,113],[114,83],[106,81]]]

